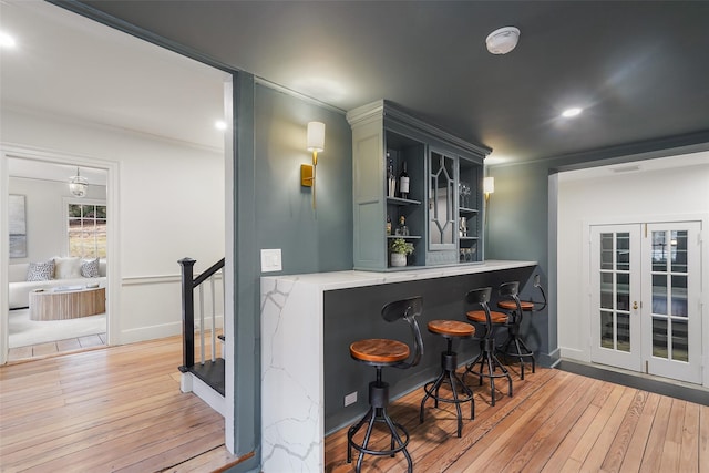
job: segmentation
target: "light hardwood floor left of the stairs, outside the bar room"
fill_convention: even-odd
[[[179,392],[181,339],[0,368],[2,472],[214,472],[224,419]],[[244,459],[240,459],[244,460]]]

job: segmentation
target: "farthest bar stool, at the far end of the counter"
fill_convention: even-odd
[[[506,299],[500,300],[497,307],[510,311],[510,320],[507,322],[507,339],[502,343],[499,351],[511,358],[520,360],[520,378],[524,379],[524,363],[525,359],[530,359],[532,362],[532,372],[535,372],[536,359],[534,352],[526,346],[524,340],[520,337],[520,326],[522,325],[522,317],[524,312],[535,312],[544,310],[546,307],[546,294],[540,285],[538,275],[534,277],[534,287],[542,292],[542,302],[535,302],[532,300],[520,300],[520,282],[512,281],[505,282],[500,286],[500,296],[506,297]],[[541,305],[535,309],[535,304]]]

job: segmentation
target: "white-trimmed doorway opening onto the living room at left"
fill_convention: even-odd
[[[2,160],[7,165],[6,192],[21,195],[27,203],[22,216],[28,228],[24,251],[7,260],[11,297],[9,306],[3,308],[2,323],[7,329],[0,340],[0,345],[7,347],[7,351],[3,349],[7,361],[105,347],[111,333],[109,325],[115,326],[117,321],[112,317],[117,313],[112,310],[115,307],[113,298],[109,297],[116,294],[113,287],[115,279],[109,277],[107,265],[111,254],[115,259],[117,227],[115,222],[95,215],[95,210],[110,209],[110,215],[117,215],[116,164],[14,146],[3,147]],[[69,197],[71,194],[68,188],[68,177],[76,174],[78,165],[82,175],[88,176],[89,183],[88,191],[81,198]],[[73,215],[72,206],[80,207],[80,217]],[[91,209],[94,210],[93,214]],[[81,224],[81,232],[76,232],[76,225],[72,225],[76,222]],[[91,232],[91,223],[95,224],[93,229],[96,232]],[[92,236],[95,243],[90,245],[84,239]],[[74,247],[73,250],[70,247]],[[52,280],[24,282],[28,265],[48,259],[53,259],[56,268]],[[56,276],[58,260],[63,265],[62,277]],[[86,271],[91,268],[95,269],[97,276],[93,275],[95,277],[89,279],[92,275]],[[17,282],[16,287],[13,282]],[[33,316],[30,310],[28,302],[32,295],[29,292],[41,289],[48,297],[56,298],[55,290],[79,294],[78,290],[89,291],[89,286],[93,285],[97,287],[91,289],[92,292],[101,291],[105,295],[105,304],[102,304],[105,310],[102,312],[54,320],[54,317],[49,316],[38,319],[37,313]]]

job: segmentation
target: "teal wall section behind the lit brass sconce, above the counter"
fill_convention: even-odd
[[[281,248],[276,274],[352,269],[352,133],[345,114],[256,84],[256,225],[258,247]],[[308,122],[325,123],[318,154],[317,207],[300,185]]]

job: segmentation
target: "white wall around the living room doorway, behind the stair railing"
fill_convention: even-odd
[[[121,281],[109,297],[120,297],[122,309],[110,315],[111,340],[179,333],[177,260],[196,259],[198,274],[225,253],[223,152],[17,110],[0,119],[4,145],[116,163],[119,258],[109,264],[119,265]]]

